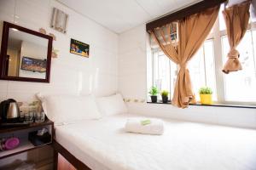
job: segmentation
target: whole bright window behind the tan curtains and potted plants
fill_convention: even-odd
[[[212,99],[220,104],[256,104],[256,23],[251,23],[237,47],[243,70],[226,75],[222,68],[230,50],[221,7],[218,20],[202,47],[189,61],[189,73],[196,99],[203,86],[212,88]],[[151,41],[152,42],[152,41]],[[177,78],[177,65],[156,48],[152,48],[148,65],[148,89],[156,86],[170,91],[172,99]]]

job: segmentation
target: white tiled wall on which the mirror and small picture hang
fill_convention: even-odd
[[[69,14],[67,35],[49,28],[52,8]],[[52,59],[50,83],[0,81],[0,100],[31,101],[34,94],[113,94],[117,90],[118,35],[55,0],[0,0],[0,36],[3,20],[54,33],[59,57]],[[69,53],[70,38],[90,44],[90,58]],[[1,40],[0,38],[0,40]]]

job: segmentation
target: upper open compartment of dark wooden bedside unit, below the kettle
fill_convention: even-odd
[[[35,146],[29,141],[28,133],[38,131],[42,128],[48,129],[48,132],[51,135],[50,142]],[[46,119],[44,122],[32,122],[31,124],[23,127],[0,127],[0,139],[7,137],[17,137],[20,139],[20,144],[15,149],[0,151],[0,159],[15,156],[16,154],[20,154],[28,150],[34,150],[44,147],[45,145],[52,144],[53,132],[54,122],[49,121],[49,119]]]

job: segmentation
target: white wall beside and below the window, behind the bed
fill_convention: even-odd
[[[191,122],[256,128],[256,109],[189,106],[178,109],[172,105],[146,104],[148,33],[145,25],[119,35],[119,91],[133,113],[169,117]],[[134,100],[136,100],[134,102]]]

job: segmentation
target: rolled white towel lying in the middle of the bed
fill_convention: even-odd
[[[130,133],[162,134],[164,122],[156,118],[129,118],[125,124],[125,131]]]

